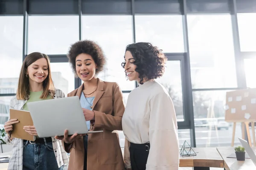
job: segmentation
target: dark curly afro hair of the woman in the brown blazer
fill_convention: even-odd
[[[102,51],[102,48],[96,42],[82,40],[72,44],[67,53],[71,68],[76,77],[76,57],[82,53],[89,54],[93,58],[95,64],[97,65],[96,74],[104,70],[106,65],[106,57]]]

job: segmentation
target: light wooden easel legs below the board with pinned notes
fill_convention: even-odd
[[[232,122],[232,121],[230,121]],[[246,133],[247,133],[247,138],[248,138],[248,142],[249,145],[252,147],[252,142],[251,142],[251,136],[250,136],[250,128],[249,128],[249,123],[251,123],[251,128],[252,128],[252,133],[253,133],[253,146],[256,146],[256,140],[255,140],[255,130],[254,130],[254,122],[255,120],[241,120],[241,121],[237,121],[233,122],[233,133],[232,133],[232,141],[231,141],[231,146],[234,146],[234,142],[235,142],[235,133],[236,133],[236,123],[241,122],[241,130],[242,130],[242,139],[245,139],[245,129],[244,129],[244,125],[246,128]]]

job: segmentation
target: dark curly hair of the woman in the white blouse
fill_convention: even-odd
[[[127,45],[126,51],[130,51],[134,57],[134,65],[137,66],[135,71],[139,73],[140,84],[143,84],[144,78],[151,80],[163,76],[167,58],[162,50],[149,42],[137,42]],[[122,62],[122,67],[125,68],[125,62]]]

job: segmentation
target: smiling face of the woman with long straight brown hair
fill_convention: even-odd
[[[47,59],[41,58],[28,66],[26,74],[29,77],[29,82],[43,83],[48,76]]]

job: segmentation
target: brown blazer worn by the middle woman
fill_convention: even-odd
[[[81,96],[84,85],[67,96]],[[87,170],[125,170],[117,130],[122,130],[122,116],[125,106],[116,82],[104,82],[99,79],[98,89],[93,101],[95,124],[90,130],[103,130],[102,133],[88,135]],[[70,153],[68,170],[84,170],[83,138],[72,144],[64,144]]]

